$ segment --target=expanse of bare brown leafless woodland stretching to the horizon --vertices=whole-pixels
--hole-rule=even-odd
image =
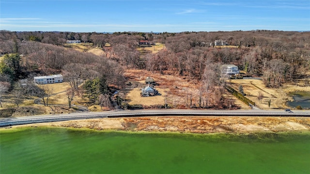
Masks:
[[[100,47],[105,55],[97,56],[71,49],[64,44],[66,40],[93,43],[93,46]],[[139,52],[137,43],[140,40],[164,43],[165,49],[156,54]],[[217,46],[216,40],[225,41],[228,45]],[[105,47],[106,43],[109,43],[110,47]],[[0,64],[0,85],[4,84],[3,82],[11,84],[10,87],[7,84],[5,87],[1,85],[3,90],[0,94],[12,90],[19,79],[32,80],[33,76],[52,73],[62,73],[77,95],[80,83],[88,82],[88,87],[84,90],[93,90],[92,85],[100,84],[98,79],[102,75],[110,87],[121,89],[125,86],[125,69],[182,76],[188,81],[200,82],[202,87],[199,90],[210,92],[216,88],[224,88],[225,80],[222,79],[227,77],[221,73],[223,64],[234,64],[248,76],[263,77],[266,87],[277,88],[294,79],[303,79],[304,86],[309,86],[310,79],[310,32],[0,31],[0,52],[7,54]],[[90,101],[98,102],[98,91],[99,88],[96,95],[91,94],[91,91],[84,92]],[[219,103],[225,105],[224,102]]]

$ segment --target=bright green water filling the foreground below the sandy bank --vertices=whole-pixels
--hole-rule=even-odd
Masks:
[[[310,174],[310,134],[2,131],[0,174]]]

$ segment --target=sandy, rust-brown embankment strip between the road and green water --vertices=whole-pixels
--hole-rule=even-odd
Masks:
[[[308,117],[254,117],[254,116],[154,116],[127,118],[98,118],[25,126],[53,126],[90,128],[94,130],[119,131],[174,131],[189,133],[250,133],[310,131]]]

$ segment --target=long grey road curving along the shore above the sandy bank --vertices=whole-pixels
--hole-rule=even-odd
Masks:
[[[136,116],[298,116],[310,117],[310,111],[294,111],[294,113],[285,111],[264,111],[264,110],[128,110],[128,111],[108,111],[108,112],[90,112],[73,113],[62,115],[42,115],[25,116],[16,118],[0,119],[0,127],[44,123],[54,121],[67,121],[90,118],[113,118],[113,117],[136,117]]]

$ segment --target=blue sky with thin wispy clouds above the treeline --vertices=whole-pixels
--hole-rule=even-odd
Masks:
[[[0,30],[310,30],[310,0],[0,0]]]

